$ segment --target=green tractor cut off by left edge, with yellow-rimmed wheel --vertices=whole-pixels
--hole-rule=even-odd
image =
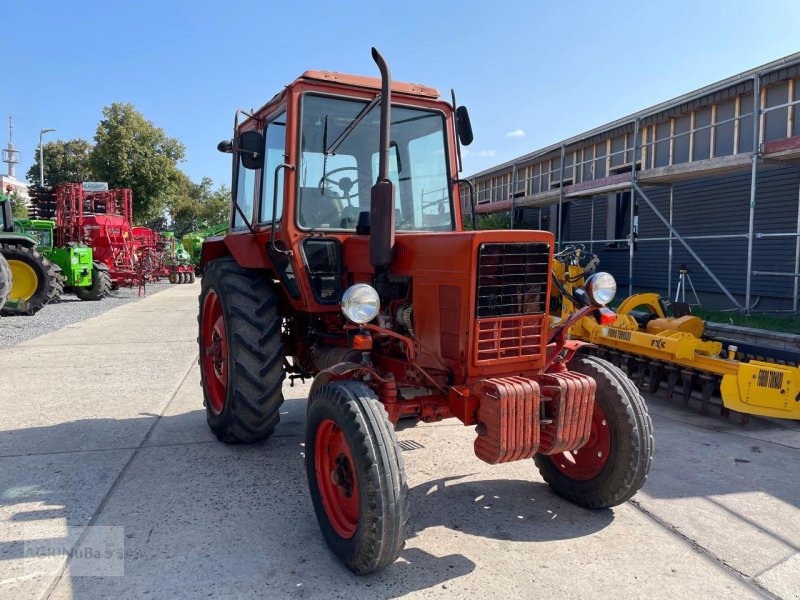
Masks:
[[[35,237],[15,231],[11,200],[0,194],[0,254],[8,263],[8,271],[0,266],[0,313],[4,315],[32,315],[61,296],[60,269],[36,245]]]

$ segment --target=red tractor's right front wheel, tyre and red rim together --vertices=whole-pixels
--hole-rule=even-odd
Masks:
[[[559,496],[586,508],[622,504],[639,491],[653,461],[653,423],[633,382],[610,362],[580,356],[569,363],[597,382],[589,441],[572,452],[534,456]]]

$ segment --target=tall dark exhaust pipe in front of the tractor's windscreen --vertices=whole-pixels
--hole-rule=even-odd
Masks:
[[[370,191],[370,264],[375,269],[378,292],[388,283],[387,271],[394,258],[394,185],[389,179],[389,142],[392,110],[392,75],[381,53],[372,49],[381,72],[381,123],[378,147],[378,179]],[[380,286],[380,287],[379,287]]]

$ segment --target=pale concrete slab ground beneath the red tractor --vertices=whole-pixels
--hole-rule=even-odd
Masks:
[[[308,386],[286,386],[265,443],[209,432],[198,289],[0,349],[0,598],[800,598],[800,428],[661,398],[650,478],[613,510],[561,500],[532,461],[485,465],[456,422],[402,429],[411,537],[386,571],[352,575],[307,493]],[[124,576],[25,557],[90,545],[90,525],[124,528]]]

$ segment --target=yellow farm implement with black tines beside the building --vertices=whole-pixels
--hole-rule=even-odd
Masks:
[[[554,305],[551,319],[561,320],[576,311],[580,299],[573,290],[584,284],[584,275],[597,266],[597,258],[581,266],[581,248],[569,247],[554,262]],[[580,307],[578,307],[580,308]],[[635,311],[635,312],[634,312]],[[752,360],[736,360],[737,348],[703,339],[703,321],[694,315],[667,316],[658,294],[635,294],[616,309],[613,324],[601,325],[593,316],[578,321],[570,336],[597,346],[598,356],[627,368],[640,387],[648,380],[655,392],[667,383],[672,397],[680,381],[688,405],[692,390],[702,390],[701,412],[708,410],[712,394],[719,390],[722,412],[800,419],[800,367]]]

